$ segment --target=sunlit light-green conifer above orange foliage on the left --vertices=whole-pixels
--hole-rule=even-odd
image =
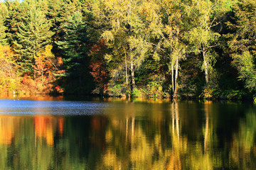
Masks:
[[[45,13],[33,6],[28,11],[28,15],[23,18],[21,25],[18,26],[18,40],[14,41],[14,51],[23,72],[33,72],[31,64],[34,64],[34,57],[50,43],[50,38],[53,35],[50,31],[50,24]]]

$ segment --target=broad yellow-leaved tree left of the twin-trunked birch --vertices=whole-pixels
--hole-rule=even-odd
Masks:
[[[151,48],[146,23],[141,14],[144,1],[100,1],[99,20],[105,21],[102,38],[110,53],[105,55],[112,80],[122,79],[127,91],[135,89],[135,72],[148,57]],[[101,17],[101,18],[100,18]],[[130,76],[129,76],[130,74]],[[129,78],[131,83],[129,83]]]

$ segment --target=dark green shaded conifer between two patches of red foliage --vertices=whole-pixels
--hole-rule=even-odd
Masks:
[[[85,91],[88,92],[91,88],[91,85],[88,84],[90,79],[88,70],[90,58],[88,54],[92,43],[90,27],[82,21],[82,13],[77,11],[68,18],[68,23],[65,23],[63,29],[65,31],[63,41],[58,41],[56,44],[63,55],[63,67],[67,70],[65,77],[72,80],[70,84],[77,86],[78,91],[79,89],[85,89],[85,86],[87,86],[88,89],[85,89]]]

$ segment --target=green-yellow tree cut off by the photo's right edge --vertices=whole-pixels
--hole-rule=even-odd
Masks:
[[[230,30],[228,47],[233,65],[238,69],[239,79],[245,81],[245,87],[255,92],[256,88],[256,2],[238,1],[233,6],[233,18],[227,25]]]

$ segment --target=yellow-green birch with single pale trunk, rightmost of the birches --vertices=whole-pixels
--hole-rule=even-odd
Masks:
[[[192,51],[203,57],[202,69],[205,73],[206,86],[210,85],[209,74],[213,70],[216,54],[212,48],[218,46],[220,34],[214,28],[220,24],[216,13],[218,6],[215,1],[192,1],[192,9],[188,11],[192,19],[193,28],[188,32],[186,38],[192,45]],[[189,15],[189,14],[188,14]]]

